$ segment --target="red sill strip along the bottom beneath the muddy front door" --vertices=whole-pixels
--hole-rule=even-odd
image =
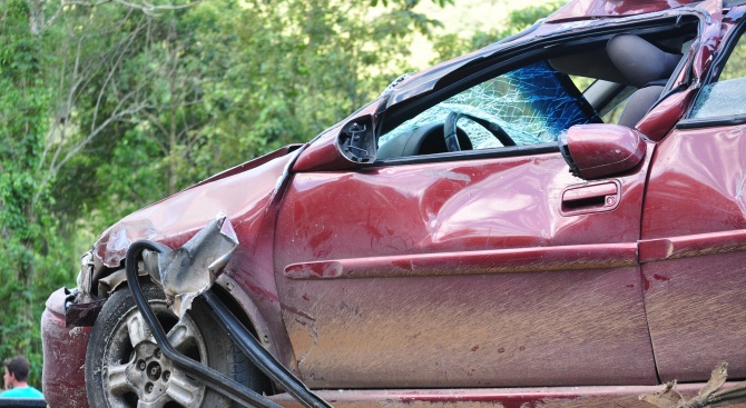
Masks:
[[[723,388],[736,382],[726,382]],[[685,396],[697,395],[705,384],[679,384],[676,389]],[[448,408],[459,407],[577,407],[577,408],[651,408],[639,396],[652,394],[662,386],[626,387],[543,387],[543,388],[463,388],[463,389],[391,389],[391,390],[323,390],[316,395],[335,408]],[[287,394],[269,397],[285,408],[298,402]]]

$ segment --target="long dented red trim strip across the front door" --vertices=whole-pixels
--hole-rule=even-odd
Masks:
[[[439,252],[292,263],[291,279],[544,272],[637,265],[637,242]]]

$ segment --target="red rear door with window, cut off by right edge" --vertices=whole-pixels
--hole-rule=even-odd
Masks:
[[[640,260],[664,381],[704,381],[719,361],[729,378],[746,378],[746,38],[736,24],[744,10],[725,16],[729,36],[707,84],[651,167]]]

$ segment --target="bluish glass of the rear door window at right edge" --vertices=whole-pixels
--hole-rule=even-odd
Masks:
[[[695,101],[691,119],[746,115],[746,39],[742,34],[717,82],[705,86]]]

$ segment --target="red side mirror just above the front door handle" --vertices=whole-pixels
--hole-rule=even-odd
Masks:
[[[558,142],[570,171],[586,180],[634,168],[647,148],[639,131],[619,125],[576,125]]]

